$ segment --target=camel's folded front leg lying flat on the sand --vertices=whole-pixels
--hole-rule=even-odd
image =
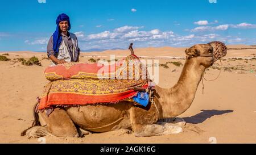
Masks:
[[[149,137],[159,135],[170,135],[182,132],[182,128],[176,125],[166,123],[165,125],[147,124],[147,125],[133,125],[133,131],[136,137]]]

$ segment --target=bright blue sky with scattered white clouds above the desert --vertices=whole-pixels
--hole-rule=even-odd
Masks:
[[[214,1],[214,0],[210,0]],[[254,0],[1,1],[0,51],[46,51],[61,13],[81,49],[256,44]]]

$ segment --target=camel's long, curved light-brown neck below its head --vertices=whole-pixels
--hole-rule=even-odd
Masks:
[[[205,67],[192,58],[185,61],[179,81],[171,89],[156,86],[163,118],[178,116],[191,106],[204,70]]]

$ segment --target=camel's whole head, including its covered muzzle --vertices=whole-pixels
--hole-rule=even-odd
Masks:
[[[196,57],[201,65],[206,68],[213,65],[215,61],[226,55],[227,47],[220,41],[212,41],[208,44],[196,44],[186,49],[187,59]]]

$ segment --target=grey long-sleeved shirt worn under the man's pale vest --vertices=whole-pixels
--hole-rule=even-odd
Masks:
[[[73,55],[72,53],[72,49],[73,49],[73,44],[72,44],[72,40],[76,40],[77,41],[77,37],[74,33],[68,32],[68,36],[65,36],[63,33],[61,33],[62,35],[62,41],[61,44],[65,43],[65,45],[68,47],[68,52],[69,55],[71,56],[71,61],[73,62],[78,62],[79,61],[79,55],[80,55],[80,48],[77,45],[77,48],[75,48],[75,53]],[[53,37],[51,36],[47,45],[47,56],[51,56],[54,55],[55,57],[57,57],[57,55],[54,53],[53,51]],[[74,56],[74,57],[73,57]]]

